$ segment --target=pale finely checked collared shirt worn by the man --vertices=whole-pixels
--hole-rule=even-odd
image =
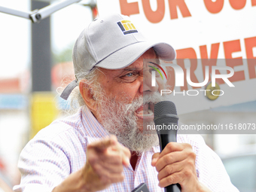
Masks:
[[[108,136],[102,125],[87,107],[79,108],[72,116],[55,120],[41,130],[20,154],[20,184],[14,191],[50,192],[72,172],[86,163],[87,145]],[[192,145],[197,154],[196,169],[200,182],[212,191],[237,192],[221,163],[220,158],[203,141],[201,136],[178,135],[178,142]],[[152,155],[159,152],[152,148],[139,157],[136,169],[123,166],[124,181],[111,184],[105,192],[129,192],[145,183],[151,192],[163,192],[158,187],[157,171],[151,166]]]

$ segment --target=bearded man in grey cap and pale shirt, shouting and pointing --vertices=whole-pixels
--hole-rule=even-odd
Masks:
[[[76,80],[62,93],[65,99],[72,93],[81,107],[26,145],[14,190],[127,192],[145,183],[149,191],[163,191],[178,183],[182,192],[238,191],[200,136],[178,135],[159,153],[157,134],[144,133],[163,98],[160,84],[143,81],[151,75],[143,61],[174,58],[169,44],[146,40],[129,17],[90,23],[73,50]]]

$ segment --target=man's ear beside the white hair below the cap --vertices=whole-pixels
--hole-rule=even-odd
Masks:
[[[91,110],[96,111],[96,100],[93,97],[93,89],[86,79],[82,79],[79,82],[79,90],[87,107],[89,107]]]

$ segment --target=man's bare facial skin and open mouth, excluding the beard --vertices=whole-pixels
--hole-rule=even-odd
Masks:
[[[111,96],[116,102],[131,103],[140,96],[151,96],[160,90],[159,84],[151,86],[151,68],[143,59],[157,59],[153,48],[146,51],[133,64],[124,69],[101,69],[99,82],[107,96]],[[159,78],[157,79],[157,82]],[[154,104],[145,104],[135,111],[138,123],[152,121],[154,119]]]

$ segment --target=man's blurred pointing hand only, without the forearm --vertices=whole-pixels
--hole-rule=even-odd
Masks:
[[[120,145],[115,136],[88,145],[84,166],[87,190],[103,190],[112,183],[123,181],[123,165],[130,164],[130,157],[130,150]]]

